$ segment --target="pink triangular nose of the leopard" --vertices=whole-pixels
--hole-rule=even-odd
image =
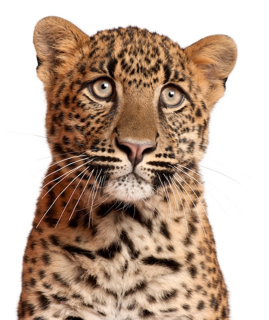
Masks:
[[[142,161],[145,152],[151,152],[155,148],[155,145],[153,144],[133,144],[125,141],[119,142],[119,145],[122,150],[126,151],[128,159],[133,167],[137,166]]]

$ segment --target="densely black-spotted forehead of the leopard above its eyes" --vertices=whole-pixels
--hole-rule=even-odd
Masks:
[[[147,88],[184,81],[184,62],[183,50],[170,38],[127,27],[100,31],[90,37],[77,66],[82,75],[105,73],[128,86]]]

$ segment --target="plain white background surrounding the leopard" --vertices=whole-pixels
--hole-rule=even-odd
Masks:
[[[32,34],[40,18],[57,15],[88,34],[137,25],[168,35],[182,47],[210,34],[235,39],[238,61],[212,113],[203,162],[209,169],[203,174],[231,319],[268,319],[266,2],[10,0],[0,6],[1,318],[16,318],[24,247],[50,161]]]

